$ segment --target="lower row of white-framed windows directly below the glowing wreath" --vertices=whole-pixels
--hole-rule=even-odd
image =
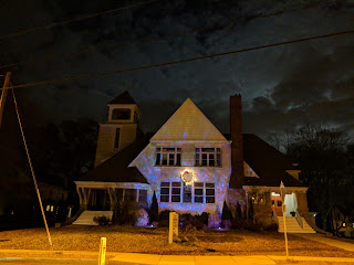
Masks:
[[[160,182],[160,202],[215,203],[215,183]]]

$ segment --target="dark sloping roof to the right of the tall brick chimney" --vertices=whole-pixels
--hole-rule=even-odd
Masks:
[[[244,178],[244,186],[304,187],[285,170],[296,170],[292,159],[256,135],[243,134],[243,159],[259,178]]]

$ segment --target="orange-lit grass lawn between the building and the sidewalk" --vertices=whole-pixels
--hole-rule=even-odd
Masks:
[[[284,236],[278,232],[205,230],[184,234],[167,243],[168,229],[135,226],[64,226],[51,229],[55,251],[98,252],[100,239],[107,237],[110,252],[164,255],[285,255]],[[0,250],[50,250],[44,229],[0,232]],[[354,257],[333,246],[289,235],[289,255]]]

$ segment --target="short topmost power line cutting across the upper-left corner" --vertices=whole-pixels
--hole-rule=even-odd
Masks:
[[[61,22],[53,22],[53,23],[50,23],[50,24],[46,24],[46,25],[35,26],[35,28],[31,28],[31,29],[28,29],[28,30],[23,30],[23,31],[18,31],[18,32],[10,33],[10,34],[7,34],[7,35],[0,35],[0,41],[2,41],[4,39],[8,39],[8,38],[13,38],[13,36],[18,36],[18,35],[32,33],[32,32],[35,32],[35,31],[48,30],[48,29],[54,28],[56,25],[63,25],[63,24],[69,24],[71,22],[75,22],[75,21],[81,21],[81,20],[85,20],[85,19],[92,19],[92,18],[95,18],[95,17],[98,17],[98,15],[102,15],[102,14],[114,13],[114,12],[117,12],[117,11],[121,11],[121,10],[139,7],[139,6],[143,6],[143,4],[150,3],[150,2],[156,2],[156,1],[158,1],[158,0],[148,0],[148,1],[145,1],[145,2],[139,2],[139,3],[132,4],[132,6],[123,7],[123,8],[111,9],[111,10],[106,10],[106,11],[98,12],[98,13],[92,13],[92,14],[79,17],[79,18],[75,18],[75,19],[70,19],[70,20],[65,20],[65,21],[61,21]]]

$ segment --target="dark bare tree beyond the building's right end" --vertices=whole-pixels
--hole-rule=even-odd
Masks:
[[[319,126],[304,126],[293,134],[288,155],[300,162],[300,180],[309,186],[309,205],[319,210],[320,226],[331,229],[337,187],[347,174],[346,138],[343,132]],[[344,195],[344,194],[342,194]],[[345,200],[341,200],[345,201]]]

